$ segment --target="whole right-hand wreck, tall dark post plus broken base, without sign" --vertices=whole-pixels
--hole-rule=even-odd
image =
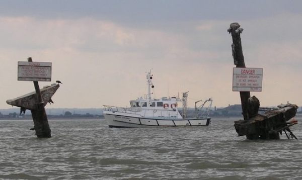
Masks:
[[[232,54],[236,67],[245,68],[245,62],[241,46],[243,29],[238,23],[232,23],[228,32],[232,34]],[[247,139],[280,139],[282,132],[289,138],[296,138],[289,127],[297,124],[294,119],[297,106],[287,103],[277,108],[260,108],[259,100],[250,92],[240,92],[241,105],[244,120],[235,121],[235,129],[239,136]],[[264,113],[259,114],[259,111]]]

